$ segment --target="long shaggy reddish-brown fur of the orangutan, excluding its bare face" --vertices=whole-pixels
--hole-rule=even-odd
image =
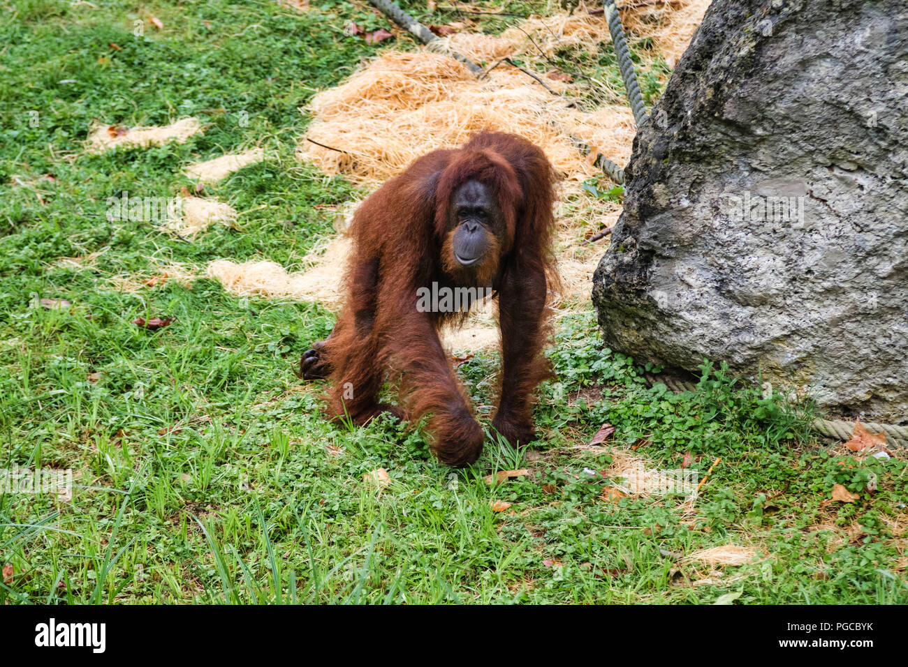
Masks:
[[[453,193],[466,181],[494,193],[504,220],[489,257],[465,270],[451,262],[447,232]],[[330,371],[329,412],[362,424],[393,409],[378,394],[400,379],[412,421],[428,417],[439,460],[464,466],[479,456],[484,434],[438,337],[439,325],[463,313],[419,312],[417,290],[433,281],[496,290],[501,327],[501,397],[492,426],[513,445],[534,437],[532,403],[550,367],[547,290],[557,279],[551,252],[555,174],[545,154],[513,134],[482,132],[462,148],[430,152],[387,181],[360,206],[350,228],[355,251],[347,299],[331,336],[317,346]],[[311,377],[320,377],[312,374]]]

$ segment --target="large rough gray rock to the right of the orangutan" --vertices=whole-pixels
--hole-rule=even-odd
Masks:
[[[908,423],[908,4],[716,0],[634,142],[606,343]]]

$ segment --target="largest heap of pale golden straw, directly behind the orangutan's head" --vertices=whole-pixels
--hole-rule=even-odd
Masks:
[[[625,106],[583,113],[513,68],[499,67],[479,81],[463,64],[428,52],[384,54],[341,86],[315,95],[310,110],[306,138],[312,142],[301,142],[298,156],[323,172],[371,185],[482,130],[526,137],[573,181],[599,171],[577,152],[572,133],[616,162],[627,161],[634,137]]]

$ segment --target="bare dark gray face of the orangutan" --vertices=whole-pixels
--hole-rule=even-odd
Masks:
[[[454,192],[451,201],[451,230],[454,257],[469,267],[482,260],[489,250],[489,234],[501,238],[504,219],[491,190],[479,181],[467,181]]]

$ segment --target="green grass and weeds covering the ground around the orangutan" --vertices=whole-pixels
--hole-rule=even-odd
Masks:
[[[362,5],[15,8],[0,10],[0,467],[71,468],[74,494],[0,495],[0,564],[12,566],[0,603],[908,602],[903,461],[833,456],[809,410],[721,368],[705,366],[696,391],[647,387],[601,347],[591,311],[558,323],[532,451],[491,444],[452,471],[419,430],[321,418],[321,387],[291,373],[331,329],[321,306],[238,299],[212,280],[115,287],[164,261],[299,269],[327,238],[332,207],[361,192],[293,159],[299,107],[375,53],[342,34]],[[134,36],[152,14],[164,30]],[[82,154],[93,120],[186,115],[206,130],[184,144]],[[104,217],[108,197],[174,196],[191,185],[186,162],[252,145],[268,159],[205,191],[242,211],[235,228],[184,242]],[[94,252],[84,269],[57,263]],[[140,316],[174,320],[149,331]],[[483,353],[459,368],[487,424],[496,363]],[[605,423],[611,449],[578,447]],[[602,500],[619,480],[586,471],[632,447],[654,467],[686,452],[701,473],[723,460],[693,511],[675,496]],[[363,476],[380,467],[390,485],[378,489]],[[528,476],[500,486],[482,479],[521,467]],[[859,499],[822,505],[834,484]],[[494,500],[510,511],[491,512]],[[723,544],[762,555],[712,574],[665,555]]]

